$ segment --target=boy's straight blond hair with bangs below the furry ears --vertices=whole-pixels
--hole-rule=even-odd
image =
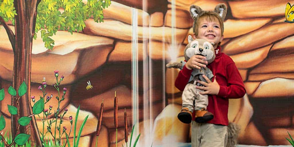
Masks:
[[[219,22],[221,34],[223,35],[223,30],[224,30],[223,20],[215,12],[208,11],[200,15],[197,21],[194,21],[193,23],[193,33],[195,33],[196,36],[198,36],[198,29],[200,26],[200,22],[203,20],[206,20],[208,22]]]

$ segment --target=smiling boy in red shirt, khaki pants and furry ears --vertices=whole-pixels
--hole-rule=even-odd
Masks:
[[[245,88],[240,73],[233,60],[220,52],[220,42],[223,40],[223,21],[227,8],[225,4],[218,4],[214,11],[203,11],[192,5],[190,13],[194,20],[194,38],[206,39],[214,42],[215,60],[208,65],[213,75],[213,82],[206,76],[206,82],[197,81],[204,85],[196,88],[204,90],[201,94],[208,94],[207,111],[214,114],[214,118],[206,123],[192,122],[192,147],[225,147],[227,144],[228,126],[228,98],[241,98],[245,95]],[[179,72],[175,86],[183,91],[194,68],[206,67],[205,57],[192,56]],[[206,111],[206,110],[203,110]]]

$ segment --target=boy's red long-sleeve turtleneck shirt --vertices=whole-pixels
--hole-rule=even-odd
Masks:
[[[215,60],[207,67],[216,76],[216,81],[220,85],[218,95],[208,95],[207,111],[214,114],[214,118],[207,123],[228,125],[228,98],[242,98],[245,95],[245,87],[241,75],[234,61],[226,54],[220,52],[220,46],[217,48]],[[217,50],[215,49],[215,51]],[[192,69],[186,66],[179,72],[175,81],[175,86],[183,91],[191,76]],[[214,81],[214,78],[212,82]],[[195,116],[195,115],[193,115]],[[194,120],[194,119],[193,119]]]

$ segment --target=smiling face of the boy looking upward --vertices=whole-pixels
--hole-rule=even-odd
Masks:
[[[220,24],[218,22],[208,22],[207,20],[202,20],[198,27],[198,36],[194,34],[194,37],[199,39],[206,39],[209,42],[214,42],[214,48],[216,49],[218,43],[223,40],[223,35],[221,34]]]

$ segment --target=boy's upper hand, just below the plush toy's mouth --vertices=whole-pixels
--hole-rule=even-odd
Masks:
[[[201,67],[206,67],[206,64],[208,64],[208,62],[203,59],[206,59],[206,57],[194,55],[187,61],[185,66],[187,69],[201,69]]]

